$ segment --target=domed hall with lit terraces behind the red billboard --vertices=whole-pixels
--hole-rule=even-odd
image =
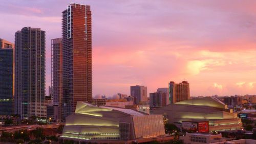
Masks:
[[[204,97],[176,102],[157,108],[169,123],[181,127],[182,121],[209,121],[209,131],[241,130],[241,118],[217,98]]]

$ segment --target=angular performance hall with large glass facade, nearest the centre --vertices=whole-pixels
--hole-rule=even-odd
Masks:
[[[77,102],[75,113],[66,118],[62,138],[130,143],[126,141],[164,135],[162,115]]]

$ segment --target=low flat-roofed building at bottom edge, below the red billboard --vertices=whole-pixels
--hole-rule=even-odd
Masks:
[[[185,136],[180,136],[179,138],[182,139],[185,144],[202,144],[226,141],[225,138],[222,138],[221,133],[186,133]]]

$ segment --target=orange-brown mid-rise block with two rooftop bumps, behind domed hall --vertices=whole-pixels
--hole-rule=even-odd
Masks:
[[[175,84],[174,81],[169,83],[169,104],[187,100],[190,97],[189,83],[182,81],[182,83]]]

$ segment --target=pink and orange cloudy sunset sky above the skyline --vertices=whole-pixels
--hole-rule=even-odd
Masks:
[[[91,5],[93,95],[147,92],[187,80],[190,96],[256,94],[256,1],[0,0],[0,38],[23,27],[46,31],[46,88],[51,39],[61,37],[70,2]]]

